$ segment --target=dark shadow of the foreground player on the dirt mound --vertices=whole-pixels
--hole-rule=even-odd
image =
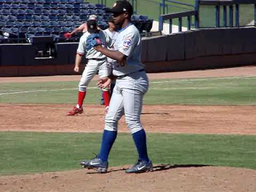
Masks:
[[[164,171],[164,170],[169,170],[169,169],[175,169],[175,168],[180,168],[180,167],[204,167],[204,166],[213,166],[213,165],[202,165],[202,164],[183,164],[183,165],[178,165],[178,164],[161,164],[161,165],[156,165],[153,166],[153,171],[151,172],[155,172],[155,171]],[[108,170],[107,173],[110,172],[116,172],[116,171],[125,171],[125,168],[122,169],[115,169],[115,170]],[[95,174],[98,172],[92,172],[92,173],[87,173],[87,174]]]

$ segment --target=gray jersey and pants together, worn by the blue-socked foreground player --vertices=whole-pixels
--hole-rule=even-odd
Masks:
[[[113,63],[113,74],[125,77],[116,79],[116,84],[111,96],[108,113],[105,117],[105,130],[117,131],[119,119],[125,115],[131,133],[143,129],[140,122],[143,95],[148,91],[148,77],[145,71],[140,71],[144,66],[140,61],[141,37],[138,29],[130,24],[119,31],[115,43],[115,50],[127,56],[124,67],[117,67]]]

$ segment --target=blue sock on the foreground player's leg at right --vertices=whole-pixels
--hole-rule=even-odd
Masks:
[[[142,129],[138,132],[133,133],[132,138],[134,140],[135,146],[137,147],[139,159],[141,161],[149,162],[145,131]]]

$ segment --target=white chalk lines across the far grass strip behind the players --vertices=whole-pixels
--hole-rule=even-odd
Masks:
[[[235,79],[235,78],[249,78],[249,77],[254,77],[254,76],[237,76],[237,77],[217,77],[217,78],[196,78],[196,79],[177,79],[177,80],[173,80],[173,81],[157,81],[157,82],[150,82],[150,84],[156,84],[156,83],[170,83],[170,82],[188,82],[188,81],[207,81],[207,80],[218,80],[218,79]],[[97,86],[95,87],[87,87],[87,89],[98,89]],[[157,89],[157,88],[151,88],[151,89]],[[163,90],[159,89],[159,90]],[[175,90],[175,89],[210,89],[207,87],[204,88],[198,88],[198,87],[194,87],[194,88],[166,88],[166,89],[170,89],[170,90]],[[54,89],[54,90],[31,90],[31,91],[19,91],[19,92],[9,92],[9,93],[0,93],[1,95],[9,95],[9,94],[22,94],[22,93],[33,93],[33,92],[49,92],[49,91],[66,91],[66,90],[77,90],[77,88],[70,88],[70,89]]]

